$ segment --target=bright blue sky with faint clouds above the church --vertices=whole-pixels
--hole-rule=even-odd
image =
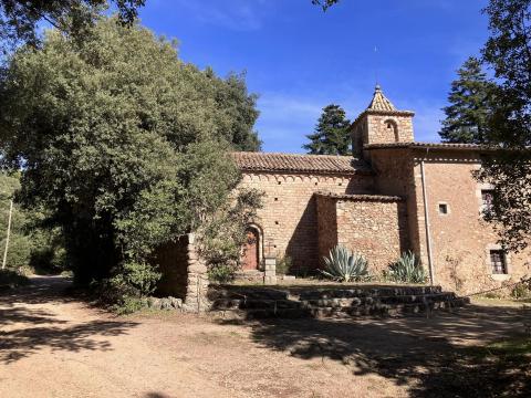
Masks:
[[[323,13],[311,0],[147,0],[140,19],[178,39],[185,61],[247,71],[263,150],[302,153],[321,109],[355,118],[376,74],[395,106],[416,112],[416,139],[438,140],[455,71],[487,38],[486,3],[342,0]]]

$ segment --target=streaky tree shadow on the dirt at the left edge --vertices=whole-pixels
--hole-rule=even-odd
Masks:
[[[0,295],[0,364],[13,363],[44,348],[110,350],[111,344],[102,337],[125,334],[137,325],[111,318],[69,322],[53,308],[80,300],[65,294],[70,282],[64,277],[34,277],[32,282]]]

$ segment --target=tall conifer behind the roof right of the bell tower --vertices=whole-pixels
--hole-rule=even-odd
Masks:
[[[481,61],[471,56],[457,71],[458,78],[451,83],[449,106],[442,108],[440,137],[446,143],[480,144],[486,140],[489,100],[493,83],[487,80]]]

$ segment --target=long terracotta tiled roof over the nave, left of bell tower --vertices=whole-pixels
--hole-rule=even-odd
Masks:
[[[368,165],[352,156],[298,155],[275,153],[232,153],[238,167],[246,171],[299,171],[315,174],[371,172]]]

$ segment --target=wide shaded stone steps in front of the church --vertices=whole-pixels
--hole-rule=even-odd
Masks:
[[[211,311],[244,318],[400,316],[469,303],[440,286],[217,286],[209,298]]]

